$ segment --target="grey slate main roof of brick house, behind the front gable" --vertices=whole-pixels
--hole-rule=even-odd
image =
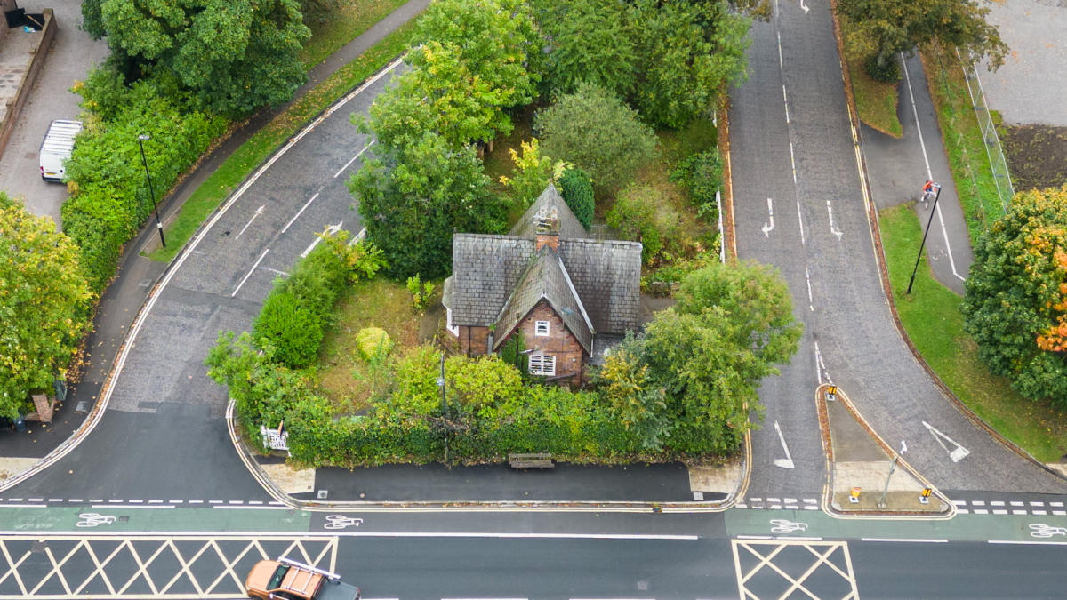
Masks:
[[[547,264],[544,249],[535,252],[537,233],[534,218],[543,206],[556,206],[558,210],[559,249],[551,254],[561,259],[559,273],[554,270],[556,266]],[[568,315],[562,309],[574,309],[564,300],[566,295],[555,291],[559,284],[554,283],[560,279],[559,274],[567,273],[577,291],[575,302],[585,307],[592,322],[590,333],[621,335],[627,330],[636,330],[639,322],[641,244],[636,241],[588,239],[587,235],[552,186],[527,209],[511,235],[456,234],[452,237],[452,275],[445,281],[443,299],[445,306],[452,312],[452,325],[489,327],[496,323],[497,331],[503,333],[507,330],[498,321],[513,293],[516,298],[522,296],[522,304],[525,305],[528,295],[536,295],[531,290],[538,289],[554,290],[553,298],[558,303],[554,307],[567,322]],[[542,260],[545,264],[538,266]],[[547,279],[540,285],[528,281],[524,283],[523,290],[519,290],[516,286],[527,271],[531,277],[537,273]],[[548,299],[547,293],[545,298]],[[517,306],[520,302],[516,300],[511,304]],[[530,309],[532,306],[529,304]],[[580,319],[580,313],[574,316]],[[571,328],[571,325],[568,323],[568,327]],[[576,329],[582,328],[575,325],[571,331],[580,342],[582,334]],[[498,336],[500,340],[504,337]],[[584,342],[583,345],[588,351],[590,346]]]

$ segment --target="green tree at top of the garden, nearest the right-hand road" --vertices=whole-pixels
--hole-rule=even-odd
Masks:
[[[639,57],[634,102],[646,121],[683,127],[715,110],[744,76],[749,20],[726,2],[637,0],[630,18]]]

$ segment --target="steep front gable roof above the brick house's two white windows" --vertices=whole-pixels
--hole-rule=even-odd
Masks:
[[[500,310],[500,316],[495,323],[493,350],[511,335],[519,322],[541,300],[548,302],[588,354],[593,344],[592,323],[571,283],[567,267],[563,266],[559,255],[547,246],[530,258],[526,270],[515,284],[514,291]]]

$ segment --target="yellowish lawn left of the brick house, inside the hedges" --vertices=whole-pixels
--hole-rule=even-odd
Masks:
[[[432,341],[442,314],[442,284],[434,283],[426,314],[415,311],[403,284],[384,277],[348,288],[334,313],[337,326],[319,349],[319,388],[340,412],[351,414],[369,407],[370,397],[380,395],[392,377],[384,370],[376,373],[373,365],[360,358],[356,334],[365,327],[384,329],[394,344],[393,356]]]

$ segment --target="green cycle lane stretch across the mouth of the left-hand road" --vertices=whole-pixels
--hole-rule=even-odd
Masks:
[[[185,508],[130,506],[2,506],[0,535],[22,532],[302,532],[312,512],[291,508]]]

